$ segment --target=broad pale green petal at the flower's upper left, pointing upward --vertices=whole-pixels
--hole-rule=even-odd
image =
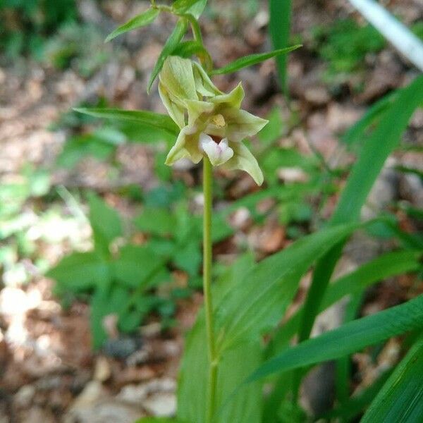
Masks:
[[[185,99],[198,99],[195,91],[192,61],[179,56],[168,56],[159,75],[173,102]]]

